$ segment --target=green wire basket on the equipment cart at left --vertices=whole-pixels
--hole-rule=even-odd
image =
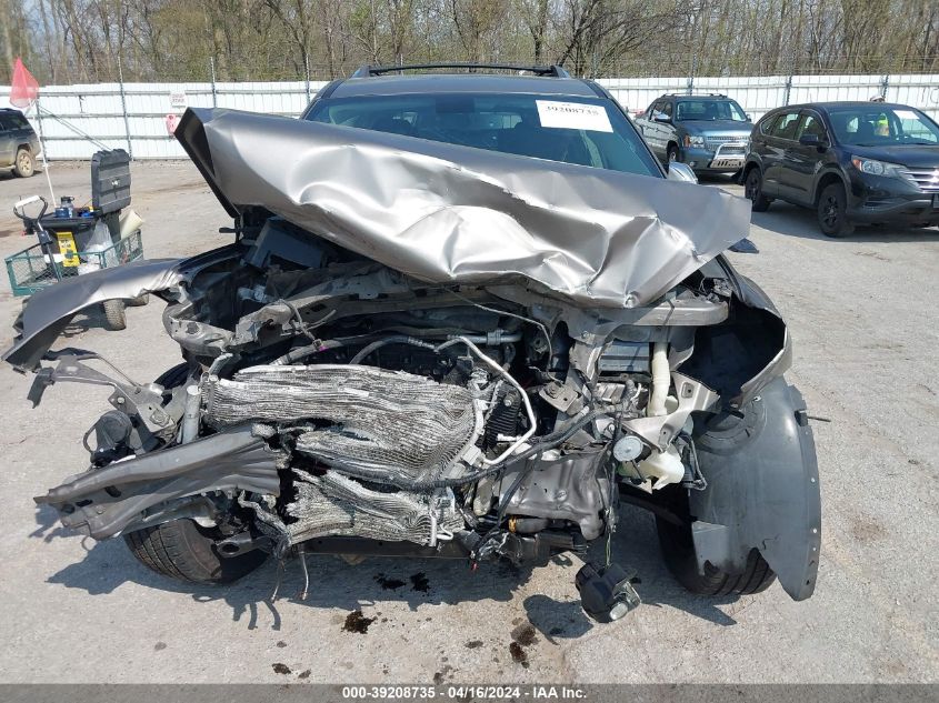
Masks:
[[[129,261],[143,258],[143,240],[140,230],[128,234],[114,242],[111,247],[101,251],[80,251],[78,258],[81,267],[66,267],[61,262],[49,261],[42,253],[39,243],[33,244],[12,257],[7,257],[7,274],[10,277],[10,290],[13,295],[32,295],[43,288],[57,283],[56,271],[59,270],[62,279],[80,275],[80,269],[110,269]]]

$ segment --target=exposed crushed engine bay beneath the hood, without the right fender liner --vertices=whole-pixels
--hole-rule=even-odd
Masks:
[[[621,491],[651,503],[707,488],[695,416],[720,399],[683,369],[732,295],[703,274],[581,341],[562,304],[422,284],[328,245],[320,269],[300,269],[290,229],[266,223],[176,290],[164,323],[184,373],[112,382],[92,470],[42,499],[64,524],[102,539],[223,515],[233,551],[342,536],[545,562],[609,534]],[[291,242],[282,257],[278,238]],[[254,269],[261,243],[277,263]],[[219,302],[226,289],[233,304]],[[54,382],[111,383],[88,354],[58,355],[33,399]],[[160,490],[137,493],[144,478]]]

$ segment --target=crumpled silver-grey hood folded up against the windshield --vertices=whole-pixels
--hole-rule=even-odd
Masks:
[[[747,235],[715,188],[356,128],[190,109],[177,137],[228,212],[263,208],[432,283],[656,300]]]

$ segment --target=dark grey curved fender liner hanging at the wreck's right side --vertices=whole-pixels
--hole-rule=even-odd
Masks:
[[[821,496],[802,395],[776,376],[741,408],[696,428],[705,491],[690,492],[698,566],[741,573],[756,549],[793,600],[815,590]]]

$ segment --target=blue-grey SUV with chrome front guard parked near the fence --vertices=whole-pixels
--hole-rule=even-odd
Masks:
[[[743,165],[753,124],[727,96],[662,96],[636,118],[659,159],[687,163],[697,173],[733,173]]]

